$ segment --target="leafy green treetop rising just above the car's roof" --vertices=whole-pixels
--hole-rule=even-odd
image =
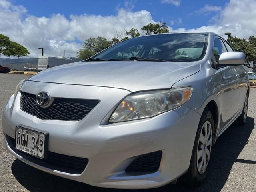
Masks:
[[[150,34],[158,34],[158,33],[168,33],[168,26],[166,26],[166,23],[157,23],[157,24],[152,24],[149,23],[141,28],[142,31],[146,33],[146,35]]]

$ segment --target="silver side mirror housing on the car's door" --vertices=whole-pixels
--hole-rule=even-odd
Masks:
[[[220,54],[219,64],[226,66],[241,65],[245,62],[245,56],[243,52],[224,52]]]

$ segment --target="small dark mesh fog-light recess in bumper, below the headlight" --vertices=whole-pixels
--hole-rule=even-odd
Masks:
[[[159,169],[162,151],[138,156],[126,169],[126,172],[156,172]]]

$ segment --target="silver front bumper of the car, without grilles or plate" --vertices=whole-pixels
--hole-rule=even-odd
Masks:
[[[60,90],[64,85],[54,86],[59,86],[58,90]],[[50,94],[54,94],[56,90],[47,90],[47,86],[44,88]],[[96,87],[90,89],[94,89],[94,92],[100,91]],[[114,88],[100,89],[109,89],[105,90],[106,93]],[[118,92],[117,95],[120,97],[116,98],[118,101],[128,94],[124,90],[114,89],[114,91]],[[4,108],[2,120],[4,145],[18,159],[35,168],[92,186],[140,189],[168,184],[186,172],[189,167],[200,115],[186,105],[153,118],[102,125],[100,122],[107,114],[101,113],[101,109],[106,108],[104,98],[99,98],[102,106],[100,104],[96,106],[86,118],[78,122],[68,122],[40,120],[23,112],[19,108],[19,97],[20,94],[13,102],[12,96]],[[108,101],[110,106],[111,102],[117,103],[114,99]],[[106,110],[111,109],[106,108]],[[48,150],[88,158],[89,162],[85,170],[81,174],[70,174],[40,166],[17,154],[12,150],[7,139],[7,135],[15,138],[17,125],[48,131],[50,133]],[[136,156],[159,150],[163,154],[157,172],[149,174],[125,172],[126,167]]]

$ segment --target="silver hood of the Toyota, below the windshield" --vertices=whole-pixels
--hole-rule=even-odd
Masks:
[[[44,70],[30,81],[122,88],[131,92],[171,88],[200,70],[200,62],[77,62]]]

